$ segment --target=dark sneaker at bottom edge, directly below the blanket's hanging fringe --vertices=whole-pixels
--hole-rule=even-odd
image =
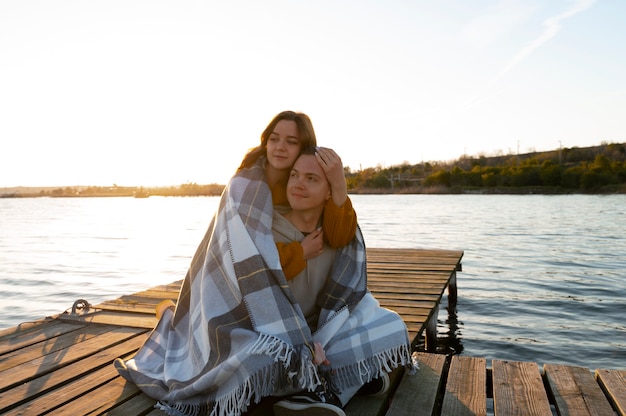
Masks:
[[[274,403],[275,416],[346,416],[339,398],[323,385]]]

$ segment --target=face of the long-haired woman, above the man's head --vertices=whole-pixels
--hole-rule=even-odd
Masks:
[[[300,138],[295,121],[281,120],[267,139],[267,161],[276,170],[291,169],[300,154]]]

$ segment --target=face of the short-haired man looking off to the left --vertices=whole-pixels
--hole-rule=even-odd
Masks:
[[[315,155],[302,155],[289,174],[287,200],[293,210],[321,208],[331,197],[330,185]]]

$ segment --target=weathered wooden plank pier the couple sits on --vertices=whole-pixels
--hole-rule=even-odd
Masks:
[[[456,298],[463,252],[368,249],[368,279],[381,305],[397,311],[410,336],[434,349],[437,312]],[[130,358],[156,324],[155,306],[176,301],[181,282],[88,305],[0,331],[0,414],[163,415],[122,379],[115,358]],[[69,306],[69,305],[68,305]],[[387,398],[355,397],[361,415],[626,415],[626,370],[588,369],[415,353],[416,375],[392,374]],[[271,414],[271,400],[248,412]],[[268,413],[269,412],[269,413]]]

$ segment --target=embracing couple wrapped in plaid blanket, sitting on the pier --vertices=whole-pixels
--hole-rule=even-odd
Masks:
[[[411,365],[406,326],[367,290],[343,166],[310,119],[278,114],[222,194],[176,308],[122,376],[171,415],[344,415],[364,387]],[[340,173],[340,175],[339,175]]]

